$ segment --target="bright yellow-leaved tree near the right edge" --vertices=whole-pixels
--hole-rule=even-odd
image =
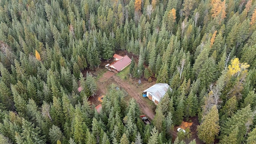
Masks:
[[[238,76],[241,72],[247,72],[246,68],[249,68],[249,64],[246,62],[241,63],[238,58],[231,60],[231,65],[228,66],[228,76]]]

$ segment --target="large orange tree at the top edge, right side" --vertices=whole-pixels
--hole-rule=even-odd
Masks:
[[[219,16],[219,14],[221,14],[221,20],[226,18],[225,3],[226,3],[226,0],[224,0],[223,2],[221,0],[211,0],[211,6],[212,6],[211,13],[213,18]]]

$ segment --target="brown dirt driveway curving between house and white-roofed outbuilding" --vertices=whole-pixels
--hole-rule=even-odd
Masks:
[[[152,106],[148,106],[148,100],[142,97],[142,91],[146,90],[148,87],[155,84],[155,82],[147,82],[146,80],[142,80],[142,84],[138,86],[136,83],[138,80],[133,80],[132,78],[128,78],[128,80],[122,80],[120,77],[116,76],[114,72],[107,71],[105,72],[101,78],[97,81],[98,84],[98,96],[104,95],[107,92],[108,85],[114,83],[118,86],[122,87],[128,95],[136,100],[138,105],[140,106],[142,114],[145,114],[153,120],[155,113],[152,109]],[[97,98],[95,98],[96,100]],[[90,100],[90,99],[89,99]]]

